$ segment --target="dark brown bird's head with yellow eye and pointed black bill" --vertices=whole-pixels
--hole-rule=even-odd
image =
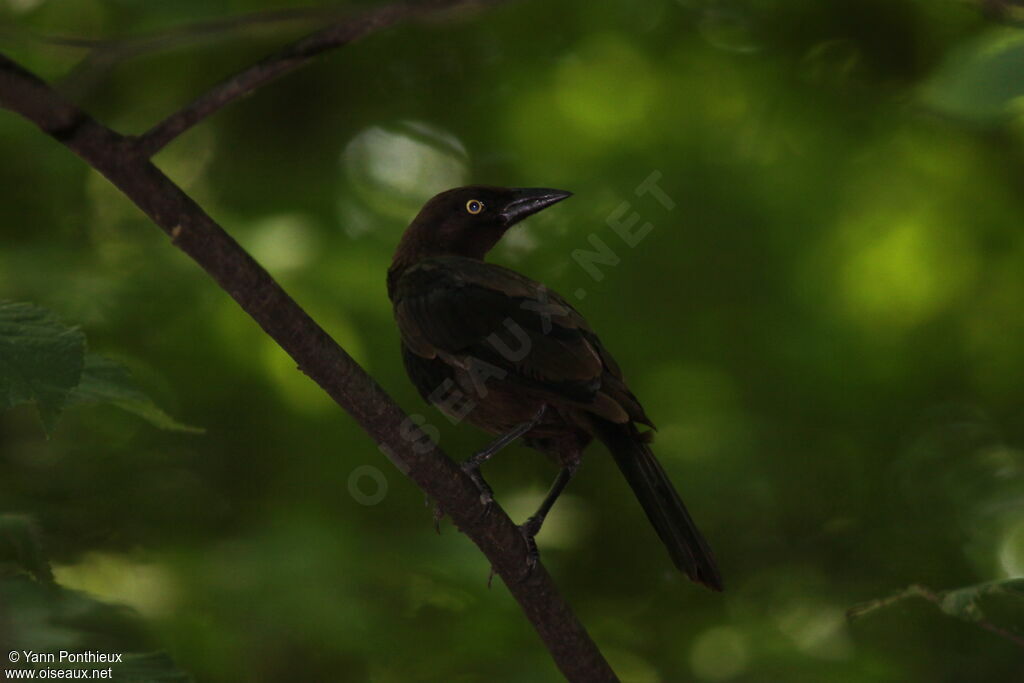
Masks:
[[[543,187],[456,187],[424,205],[406,229],[395,260],[454,255],[482,259],[523,218],[570,197]]]

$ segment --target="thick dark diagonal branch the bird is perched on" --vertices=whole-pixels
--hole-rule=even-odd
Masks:
[[[386,16],[393,23],[403,15]],[[372,25],[352,31],[365,35],[371,26],[382,26],[382,22],[384,17],[378,16]],[[437,501],[483,552],[568,680],[617,680],[547,570],[538,564],[526,573],[526,545],[508,515],[497,505],[485,508],[462,469],[430,442],[384,389],[220,225],[154,166],[131,138],[96,122],[2,54],[0,106],[32,121],[106,176],[170,236],[174,246],[199,263],[302,372],[355,418],[395,466]],[[398,434],[411,434],[412,438],[399,438]]]

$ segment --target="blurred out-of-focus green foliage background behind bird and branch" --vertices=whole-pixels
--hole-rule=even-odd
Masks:
[[[91,74],[17,37],[289,4],[0,15],[11,56],[138,133],[308,26]],[[540,546],[624,680],[1019,680],[1018,646],[923,601],[844,613],[1024,574],[1022,35],[954,0],[510,3],[332,53],[157,162],[454,456],[486,437],[406,379],[391,251],[453,184],[575,193],[494,259],[585,292],[727,588],[671,570],[594,446]],[[80,324],[206,429],[100,404],[47,440],[32,407],[0,415],[0,511],[35,520],[58,585],[132,607],[199,680],[558,680],[472,545],[205,273],[25,121],[0,115],[0,298]],[[671,209],[637,195],[654,172]],[[607,221],[633,213],[630,248]],[[599,281],[571,256],[593,236],[618,258]],[[552,475],[521,446],[486,468],[517,518]],[[42,649],[18,604],[0,634]]]

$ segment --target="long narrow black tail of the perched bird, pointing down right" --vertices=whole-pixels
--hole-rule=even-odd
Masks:
[[[633,425],[599,422],[597,437],[611,451],[672,561],[691,580],[721,591],[722,577],[715,556],[644,435]]]

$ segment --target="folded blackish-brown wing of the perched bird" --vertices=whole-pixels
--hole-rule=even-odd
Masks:
[[[562,297],[519,273],[461,257],[421,261],[400,278],[395,318],[409,349],[504,379],[615,422],[649,423],[614,359]]]

